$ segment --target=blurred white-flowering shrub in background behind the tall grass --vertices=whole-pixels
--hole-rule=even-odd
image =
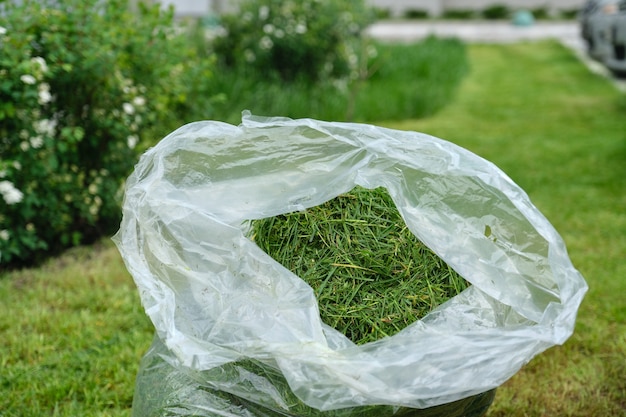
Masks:
[[[356,77],[361,33],[373,17],[363,0],[244,0],[224,16],[214,48],[226,65],[264,78]]]

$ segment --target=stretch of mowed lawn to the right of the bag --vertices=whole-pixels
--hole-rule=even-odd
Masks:
[[[433,118],[386,123],[491,160],[563,236],[590,290],[574,335],[498,391],[490,417],[626,415],[626,96],[555,42],[472,45]]]

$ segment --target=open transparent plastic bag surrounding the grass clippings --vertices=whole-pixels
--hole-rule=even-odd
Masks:
[[[312,289],[245,226],[356,185],[385,187],[409,229],[472,284],[359,346],[321,322]],[[355,123],[244,113],[240,126],[185,125],[140,159],[114,240],[162,344],[138,392],[150,392],[151,369],[170,366],[157,379],[182,402],[167,415],[409,415],[479,398],[565,342],[587,290],[558,233],[495,165],[432,136]],[[231,409],[211,411],[221,401]],[[135,415],[151,415],[140,402]]]

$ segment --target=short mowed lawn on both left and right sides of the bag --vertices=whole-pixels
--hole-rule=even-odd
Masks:
[[[575,334],[501,387],[489,416],[626,409],[626,98],[552,42],[473,45],[456,100],[418,130],[495,162],[565,239],[590,290]],[[0,277],[0,416],[129,416],[152,338],[109,241]]]

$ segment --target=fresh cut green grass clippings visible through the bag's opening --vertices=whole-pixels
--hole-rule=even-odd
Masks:
[[[409,231],[384,188],[255,220],[251,233],[313,288],[322,320],[356,344],[396,334],[468,286]]]

